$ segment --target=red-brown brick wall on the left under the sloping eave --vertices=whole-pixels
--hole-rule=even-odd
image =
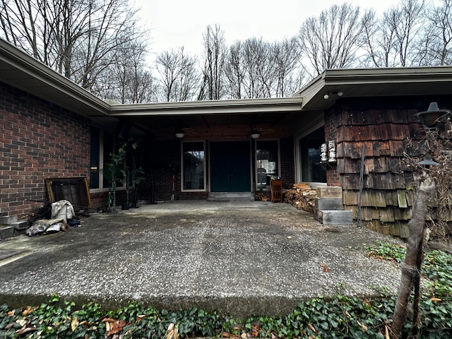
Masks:
[[[90,121],[0,83],[0,215],[48,200],[45,179],[88,177]]]

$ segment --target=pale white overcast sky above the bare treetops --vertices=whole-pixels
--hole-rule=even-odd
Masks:
[[[427,0],[429,1],[429,0]],[[151,29],[152,52],[184,46],[201,54],[203,33],[215,24],[225,32],[226,44],[249,37],[273,42],[296,35],[306,18],[319,16],[335,0],[135,0],[139,16]],[[349,0],[382,13],[397,0]]]

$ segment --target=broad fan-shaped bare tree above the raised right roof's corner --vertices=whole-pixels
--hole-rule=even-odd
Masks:
[[[359,6],[333,5],[318,18],[308,18],[299,29],[299,46],[311,65],[311,76],[325,69],[342,69],[357,64],[361,47],[363,21]]]

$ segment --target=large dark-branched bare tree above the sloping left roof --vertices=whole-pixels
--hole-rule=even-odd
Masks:
[[[127,0],[1,0],[0,23],[2,37],[88,90],[148,33]]]

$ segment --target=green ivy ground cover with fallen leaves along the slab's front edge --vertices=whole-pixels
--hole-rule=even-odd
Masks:
[[[403,246],[376,242],[367,248],[369,256],[400,262]],[[441,251],[428,252],[422,268],[424,284],[420,309],[420,338],[452,338],[452,256]],[[340,286],[339,286],[340,287]],[[130,302],[116,311],[105,311],[99,304],[80,309],[52,296],[48,304],[24,309],[0,305],[0,338],[172,338],[240,337],[261,338],[384,338],[386,324],[393,316],[396,296],[379,289],[377,297],[316,297],[300,302],[287,316],[251,316],[234,319],[220,311],[179,309],[169,311],[143,307]],[[406,336],[409,326],[404,329]]]

